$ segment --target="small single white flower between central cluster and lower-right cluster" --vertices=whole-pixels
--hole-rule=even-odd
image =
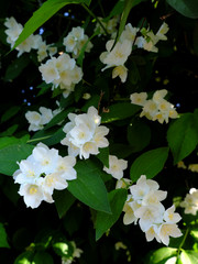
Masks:
[[[123,177],[123,169],[128,167],[128,162],[119,160],[117,156],[109,155],[109,168],[106,166],[103,170],[111,174],[113,178],[121,179]]]

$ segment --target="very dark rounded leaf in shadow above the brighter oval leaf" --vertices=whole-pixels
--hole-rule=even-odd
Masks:
[[[148,145],[151,140],[151,129],[142,120],[133,120],[128,127],[128,141],[133,147],[133,152],[140,152]]]

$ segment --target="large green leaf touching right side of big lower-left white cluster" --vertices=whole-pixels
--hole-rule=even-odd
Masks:
[[[100,169],[91,161],[80,161],[75,166],[77,179],[68,183],[68,190],[85,205],[111,213],[106,186]]]

